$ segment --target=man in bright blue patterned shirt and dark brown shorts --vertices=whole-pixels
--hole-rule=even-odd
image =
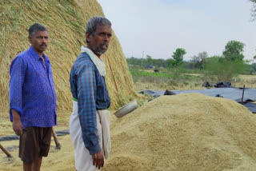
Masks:
[[[20,136],[18,156],[26,171],[39,171],[50,149],[52,126],[57,125],[56,93],[50,60],[43,52],[48,31],[38,23],[29,29],[30,49],[10,65],[10,121]]]

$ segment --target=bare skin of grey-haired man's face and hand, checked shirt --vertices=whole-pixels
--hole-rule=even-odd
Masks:
[[[111,26],[97,25],[94,34],[86,33],[87,47],[100,58],[106,52],[109,46],[110,38],[112,36]],[[93,164],[101,169],[104,165],[104,154],[102,150],[92,155]]]

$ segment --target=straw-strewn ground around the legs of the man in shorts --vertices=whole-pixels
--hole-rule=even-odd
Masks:
[[[113,111],[111,111],[113,113]],[[62,115],[62,116],[61,116]],[[60,121],[58,126],[54,127],[55,131],[69,129],[70,113],[58,113]],[[8,113],[0,113],[0,137],[14,135],[12,125],[9,121]],[[117,118],[112,114],[111,121]],[[66,121],[65,121],[66,120]],[[74,149],[70,139],[70,135],[58,136],[58,141],[62,145],[61,149],[55,149],[54,137],[52,137],[50,145],[50,153],[48,157],[43,157],[42,171],[73,171],[74,168]],[[19,171],[22,170],[22,161],[18,157],[18,140],[0,141],[0,144],[12,155],[11,158],[0,149],[0,171]]]

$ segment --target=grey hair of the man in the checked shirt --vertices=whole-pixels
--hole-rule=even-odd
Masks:
[[[110,20],[107,18],[101,17],[101,16],[95,16],[93,18],[90,18],[89,22],[86,24],[86,33],[88,34],[94,34],[96,31],[96,26],[111,26]]]

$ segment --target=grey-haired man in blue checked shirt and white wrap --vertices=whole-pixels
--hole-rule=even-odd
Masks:
[[[111,22],[103,17],[90,18],[86,25],[87,47],[70,72],[73,113],[70,137],[78,171],[101,169],[110,153],[110,97],[106,89],[106,66],[101,55],[111,38]]]

